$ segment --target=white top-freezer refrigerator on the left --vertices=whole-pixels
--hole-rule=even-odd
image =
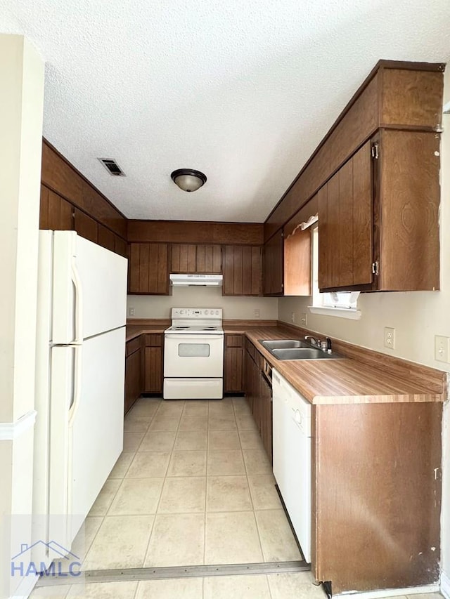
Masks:
[[[38,277],[33,541],[49,565],[46,544],[70,550],[122,452],[127,260],[42,230]]]

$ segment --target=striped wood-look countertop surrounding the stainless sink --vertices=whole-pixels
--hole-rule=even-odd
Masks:
[[[255,327],[247,329],[245,335],[311,404],[442,402],[445,399],[443,393],[435,393],[352,358],[277,360],[259,339],[296,338],[282,327]]]

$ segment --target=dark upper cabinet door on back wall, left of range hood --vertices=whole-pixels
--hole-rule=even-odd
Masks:
[[[169,294],[167,244],[130,244],[129,293]]]

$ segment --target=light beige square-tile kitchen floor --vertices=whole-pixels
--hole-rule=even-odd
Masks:
[[[243,398],[141,398],[124,431],[124,451],[86,518],[85,570],[301,559]],[[82,595],[73,585],[32,597],[325,598],[313,582],[300,572],[89,584]]]

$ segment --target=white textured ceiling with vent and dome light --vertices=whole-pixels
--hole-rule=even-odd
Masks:
[[[37,46],[44,136],[126,216],[263,222],[378,59],[450,58],[450,2],[0,0],[0,32]]]

